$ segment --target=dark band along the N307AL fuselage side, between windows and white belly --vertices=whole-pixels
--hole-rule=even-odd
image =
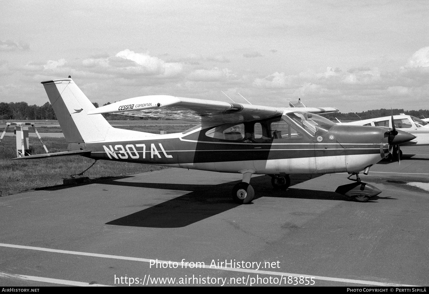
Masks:
[[[274,141],[281,140],[282,139],[278,139]],[[137,147],[136,145],[138,144],[145,144],[144,158],[143,148]],[[152,144],[154,144],[156,149],[154,152],[151,151]],[[162,145],[165,154],[159,144]],[[109,158],[103,145],[105,145],[108,150],[113,151],[118,158],[116,159],[112,155],[110,156],[111,158]],[[133,145],[134,149],[127,149],[127,145]],[[344,149],[340,144],[213,144],[211,142],[183,142],[180,141],[180,139],[151,142],[121,142],[120,144],[112,142],[103,143],[102,145],[88,144],[88,147],[94,150],[94,152],[91,153],[91,157],[93,158],[156,164],[273,160],[380,153],[380,145],[364,145]],[[134,150],[136,150],[136,152],[134,152]],[[387,147],[385,150],[387,150]],[[154,153],[154,155],[152,155],[152,153]],[[159,156],[156,153],[159,154]],[[132,158],[131,155],[133,155],[134,158]],[[137,155],[138,158],[136,158]],[[167,156],[171,156],[171,158]]]

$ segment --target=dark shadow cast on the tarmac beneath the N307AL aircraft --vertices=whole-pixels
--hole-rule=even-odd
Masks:
[[[290,185],[314,179],[322,175],[291,175]],[[163,203],[145,208],[130,215],[109,221],[106,224],[131,226],[131,227],[158,227],[173,228],[185,227],[205,218],[233,209],[239,204],[234,203],[230,196],[233,186],[241,181],[227,182],[219,185],[194,185],[194,184],[169,184],[169,183],[145,183],[124,182],[118,179],[127,179],[132,176],[122,176],[114,179],[103,179],[97,181],[105,185],[120,185],[128,187],[154,188],[174,191],[190,191],[185,195],[175,197]],[[88,185],[94,182],[82,183]],[[347,197],[332,191],[317,191],[308,189],[288,188],[287,191],[273,190],[271,177],[258,176],[251,180],[254,187],[255,198],[260,197],[284,197],[315,200],[347,200]],[[60,190],[70,186],[53,186],[39,188],[38,190]],[[144,197],[144,195],[142,195]],[[384,199],[383,197],[372,197],[372,200]],[[387,197],[387,199],[389,199]],[[369,201],[374,202],[374,201]],[[253,203],[250,203],[253,204]],[[249,205],[249,204],[248,204]],[[362,205],[360,203],[360,205]]]

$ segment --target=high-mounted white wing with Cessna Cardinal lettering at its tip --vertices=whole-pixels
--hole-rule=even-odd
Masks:
[[[228,103],[223,101],[202,100],[194,98],[174,97],[168,95],[152,95],[134,97],[91,110],[88,114],[118,113],[134,116],[158,116],[176,118],[201,118],[202,121],[213,122],[245,122],[255,121],[282,115],[286,112],[304,111],[315,114],[338,112],[333,107],[270,107],[252,104]]]

